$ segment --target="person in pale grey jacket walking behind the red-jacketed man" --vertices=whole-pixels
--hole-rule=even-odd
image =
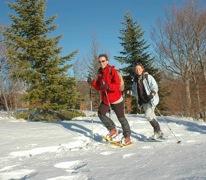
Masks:
[[[132,95],[136,97],[138,107],[144,110],[146,119],[154,129],[152,138],[163,138],[163,133],[155,115],[155,107],[159,103],[157,82],[152,75],[145,72],[144,66],[140,63],[135,65],[134,72]]]

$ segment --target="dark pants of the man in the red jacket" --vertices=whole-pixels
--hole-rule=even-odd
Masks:
[[[131,135],[131,130],[129,123],[124,115],[124,102],[120,102],[118,104],[111,104],[111,108],[114,110],[123,130],[124,137]],[[106,116],[106,113],[109,112],[109,106],[101,103],[98,109],[98,116],[105,127],[110,131],[111,129],[115,128],[114,122]]]

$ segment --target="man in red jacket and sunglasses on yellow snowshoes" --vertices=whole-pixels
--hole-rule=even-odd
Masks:
[[[109,65],[108,56],[106,54],[100,54],[98,56],[100,68],[98,70],[97,78],[91,80],[88,78],[87,82],[91,84],[93,88],[100,92],[101,103],[98,108],[98,116],[109,133],[107,137],[112,139],[118,135],[118,131],[114,122],[106,116],[110,107],[114,110],[119,122],[123,129],[123,143],[125,145],[131,144],[131,130],[127,119],[124,114],[124,101],[122,92],[120,90],[120,77],[114,66]]]

